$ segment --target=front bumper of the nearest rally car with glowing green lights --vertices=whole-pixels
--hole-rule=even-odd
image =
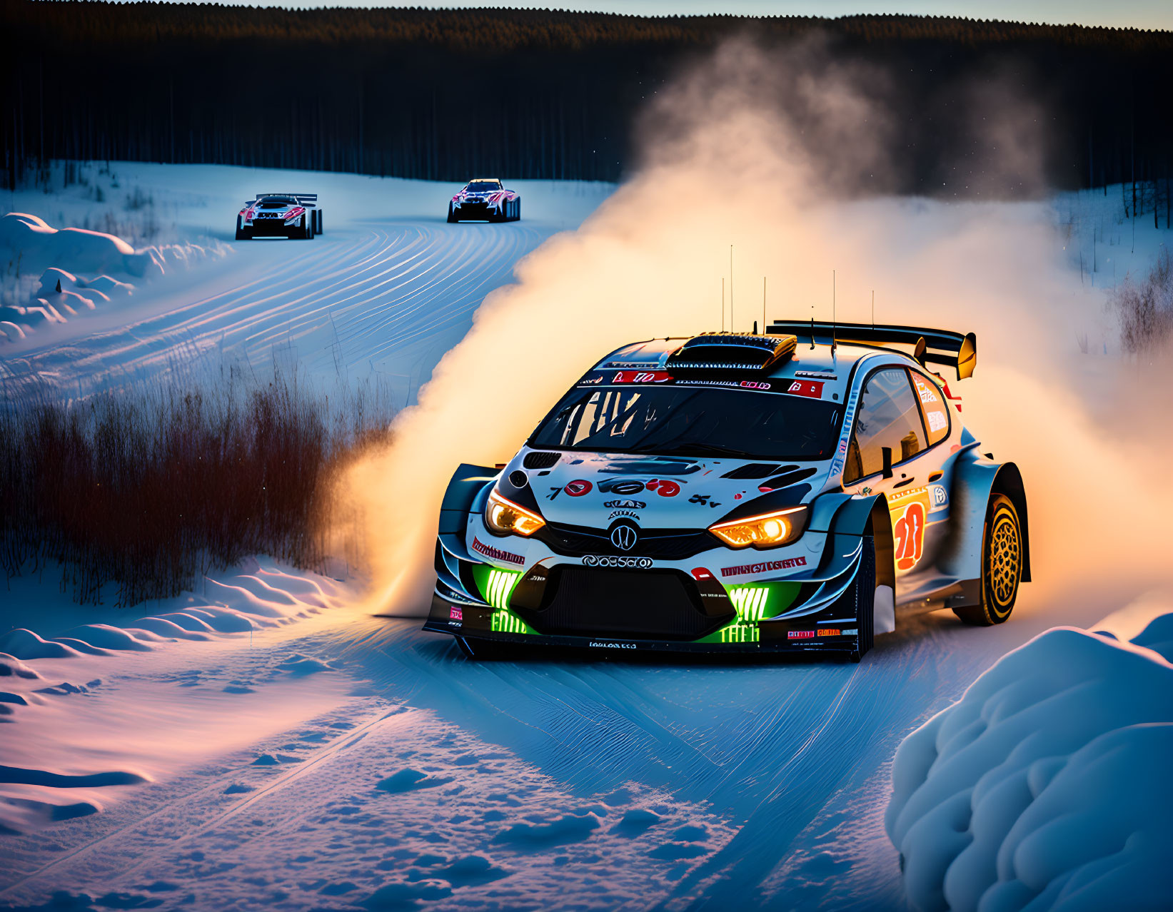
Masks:
[[[723,584],[676,567],[540,562],[522,572],[436,546],[423,629],[535,646],[703,653],[859,651],[859,600],[875,588],[873,552],[855,538],[828,573]],[[852,543],[839,542],[838,546]],[[472,558],[472,556],[469,556]]]

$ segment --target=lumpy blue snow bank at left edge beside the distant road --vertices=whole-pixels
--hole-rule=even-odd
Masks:
[[[36,274],[40,280],[26,304],[0,307],[0,341],[23,339],[41,326],[68,322],[129,298],[135,286],[116,275],[150,280],[175,267],[222,254],[219,246],[191,243],[135,250],[114,234],[55,229],[36,216],[8,212],[0,217],[0,258],[15,272],[18,281],[22,275]]]

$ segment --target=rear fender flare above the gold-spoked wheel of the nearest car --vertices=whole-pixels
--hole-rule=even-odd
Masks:
[[[1022,472],[1012,462],[994,462],[978,455],[975,443],[972,449],[957,454],[949,491],[951,531],[938,563],[960,580],[982,578],[985,511],[990,496],[1001,494],[1010,498],[1018,513],[1023,537],[1022,581],[1030,583],[1030,523]]]

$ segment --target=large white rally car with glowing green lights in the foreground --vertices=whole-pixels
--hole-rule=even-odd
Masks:
[[[1022,476],[978,452],[928,368],[960,381],[976,362],[972,334],[904,326],[625,346],[503,469],[456,470],[425,629],[470,656],[551,644],[857,661],[907,614],[1001,624],[1030,579]]]

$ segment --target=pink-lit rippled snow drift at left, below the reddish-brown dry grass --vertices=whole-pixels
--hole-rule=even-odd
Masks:
[[[345,586],[267,558],[204,583],[206,593],[168,599],[124,626],[0,633],[0,837],[100,814],[128,794],[121,787],[337,702],[347,685],[325,680],[334,663],[270,649],[265,634],[345,606]],[[26,622],[52,624],[60,607],[42,599]],[[0,612],[5,624],[19,617]],[[198,642],[187,652],[183,640]],[[176,687],[194,697],[176,699]]]

